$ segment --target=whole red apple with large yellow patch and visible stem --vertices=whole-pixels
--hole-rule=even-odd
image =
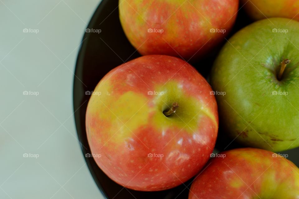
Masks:
[[[86,112],[88,143],[98,166],[124,187],[169,189],[208,161],[218,131],[211,87],[187,62],[143,56],[111,70]],[[164,112],[178,104],[175,112]]]

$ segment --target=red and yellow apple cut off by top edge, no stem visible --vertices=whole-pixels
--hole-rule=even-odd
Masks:
[[[142,55],[196,60],[224,40],[235,22],[238,0],[119,0],[119,16]]]

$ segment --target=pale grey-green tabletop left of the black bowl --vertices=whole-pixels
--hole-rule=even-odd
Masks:
[[[1,199],[102,198],[77,140],[72,101],[79,45],[99,2],[0,0]]]

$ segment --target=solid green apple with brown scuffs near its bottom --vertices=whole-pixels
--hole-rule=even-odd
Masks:
[[[232,139],[271,151],[299,146],[298,32],[297,21],[264,19],[237,32],[221,49],[211,85],[225,92],[216,100],[222,130]],[[284,59],[291,63],[279,81]]]

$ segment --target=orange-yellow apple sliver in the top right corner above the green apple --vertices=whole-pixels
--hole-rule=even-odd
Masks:
[[[247,14],[254,20],[269,17],[286,17],[299,21],[297,0],[241,0]]]

